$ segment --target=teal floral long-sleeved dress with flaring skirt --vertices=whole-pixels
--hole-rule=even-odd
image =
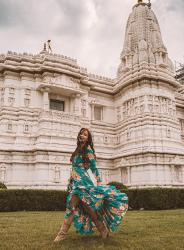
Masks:
[[[78,195],[80,200],[90,206],[97,214],[100,221],[103,221],[109,231],[116,231],[122,218],[128,209],[128,197],[121,193],[114,186],[102,185],[99,171],[96,167],[96,160],[90,146],[86,148],[89,157],[88,166],[83,163],[82,155],[74,157],[69,185],[69,194],[66,200],[66,213],[64,219],[74,213],[74,226],[77,233],[92,234],[95,227],[91,217],[84,212],[82,204],[73,212],[70,207],[72,195]],[[88,169],[91,169],[97,181],[93,183]]]

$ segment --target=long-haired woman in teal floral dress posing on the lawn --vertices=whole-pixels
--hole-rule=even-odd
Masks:
[[[82,128],[77,136],[77,148],[70,161],[72,171],[68,185],[64,223],[55,242],[65,239],[72,222],[80,234],[92,234],[94,225],[103,239],[109,232],[117,230],[128,209],[128,197],[114,186],[102,185],[96,167],[96,155],[92,136],[87,128]],[[88,169],[95,176],[97,185],[91,180]]]

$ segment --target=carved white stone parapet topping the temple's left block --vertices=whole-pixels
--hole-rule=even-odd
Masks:
[[[0,55],[0,70],[29,71],[32,74],[43,73],[48,70],[65,73],[77,78],[87,75],[85,68],[79,67],[77,60],[58,54],[28,54],[8,51]]]

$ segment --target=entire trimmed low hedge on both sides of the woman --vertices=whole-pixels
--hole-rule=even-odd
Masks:
[[[184,208],[184,189],[150,188],[121,190],[131,209]],[[0,211],[65,211],[66,191],[0,189]]]

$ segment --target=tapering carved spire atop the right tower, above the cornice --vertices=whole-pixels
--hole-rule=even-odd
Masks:
[[[120,59],[118,75],[142,62],[152,63],[155,66],[164,65],[165,68],[173,71],[173,65],[162,40],[158,20],[151,9],[150,2],[138,1],[133,7],[127,21]]]

